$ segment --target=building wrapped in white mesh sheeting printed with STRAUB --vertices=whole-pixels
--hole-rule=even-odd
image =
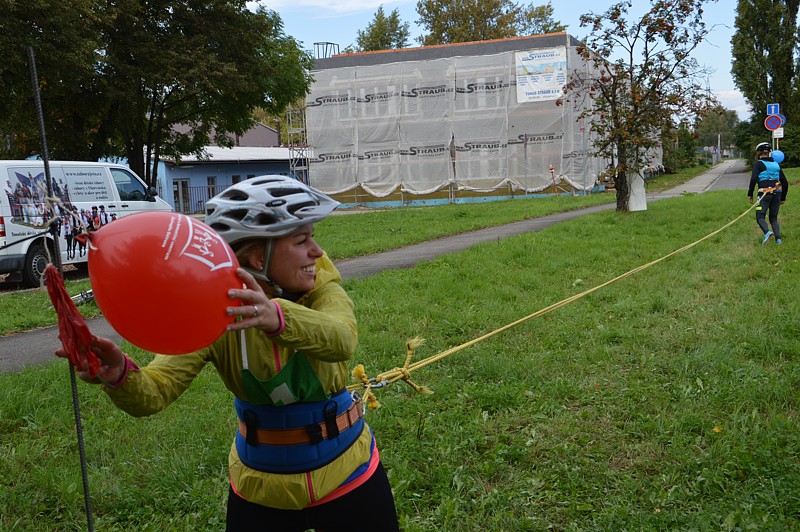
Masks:
[[[554,33],[317,59],[309,182],[356,202],[591,190],[605,165],[580,109],[556,104],[588,68],[578,45]]]

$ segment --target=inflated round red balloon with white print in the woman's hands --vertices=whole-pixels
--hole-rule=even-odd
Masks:
[[[89,236],[89,280],[109,324],[130,343],[165,355],[212,344],[238,304],[239,263],[206,224],[174,212],[137,213]]]

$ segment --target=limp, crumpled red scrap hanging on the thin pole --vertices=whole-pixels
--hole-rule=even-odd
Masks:
[[[48,264],[44,275],[47,281],[47,293],[58,315],[58,338],[67,353],[67,358],[79,370],[88,370],[91,377],[96,377],[100,370],[100,360],[89,350],[93,336],[86,325],[86,320],[70,299],[58,269]]]

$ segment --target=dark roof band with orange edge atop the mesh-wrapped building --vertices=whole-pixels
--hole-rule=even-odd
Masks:
[[[464,55],[491,55],[509,51],[530,50],[531,48],[577,46],[579,42],[575,37],[560,32],[525,37],[508,37],[489,41],[398,48],[396,50],[376,50],[373,52],[337,54],[333,57],[315,59],[314,69],[327,70],[329,68],[383,65],[401,61],[424,61]]]

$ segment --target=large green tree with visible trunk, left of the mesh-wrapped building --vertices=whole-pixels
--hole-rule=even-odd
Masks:
[[[255,108],[282,112],[310,85],[312,60],[274,11],[226,0],[167,3],[119,2],[107,51],[125,104],[125,153],[148,182],[161,157],[201,155],[212,141],[229,146],[229,133],[252,127]],[[189,131],[177,132],[179,124]]]

